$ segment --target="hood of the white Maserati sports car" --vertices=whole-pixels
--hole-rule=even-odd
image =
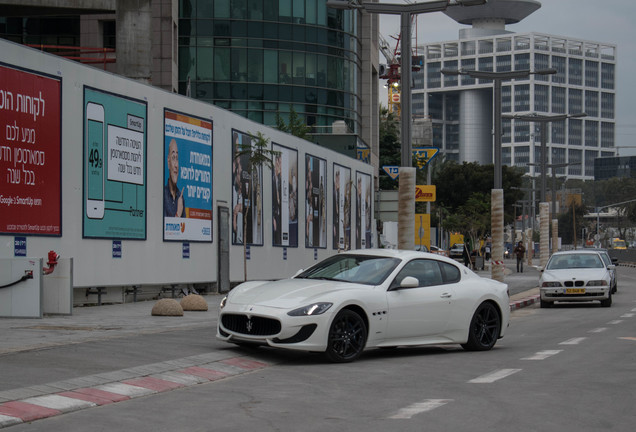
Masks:
[[[234,288],[228,301],[237,305],[260,305],[281,309],[301,307],[314,301],[326,301],[334,292],[370,289],[369,285],[316,279],[284,279],[262,284],[243,284]]]

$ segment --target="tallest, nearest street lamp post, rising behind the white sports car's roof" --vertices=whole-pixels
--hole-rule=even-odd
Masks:
[[[400,15],[401,51],[400,81],[402,94],[401,111],[401,165],[398,207],[398,248],[415,247],[415,168],[411,143],[411,17],[413,15],[441,12],[449,6],[477,6],[486,0],[433,0],[422,3],[371,3],[358,0],[330,0],[327,7],[334,9],[360,9],[372,14]]]

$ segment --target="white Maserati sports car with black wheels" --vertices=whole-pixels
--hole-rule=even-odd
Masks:
[[[390,249],[333,255],[291,279],[245,282],[220,304],[217,338],[324,352],[461,344],[486,351],[503,337],[508,286],[436,254]]]

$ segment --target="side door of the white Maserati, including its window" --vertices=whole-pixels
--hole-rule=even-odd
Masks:
[[[418,286],[402,288],[407,276]],[[415,259],[395,277],[387,292],[388,334],[395,338],[422,338],[443,334],[452,308],[453,286],[444,283],[437,260]]]

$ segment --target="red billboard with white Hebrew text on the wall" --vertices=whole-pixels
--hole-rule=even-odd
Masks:
[[[0,233],[62,235],[61,80],[0,66]]]

